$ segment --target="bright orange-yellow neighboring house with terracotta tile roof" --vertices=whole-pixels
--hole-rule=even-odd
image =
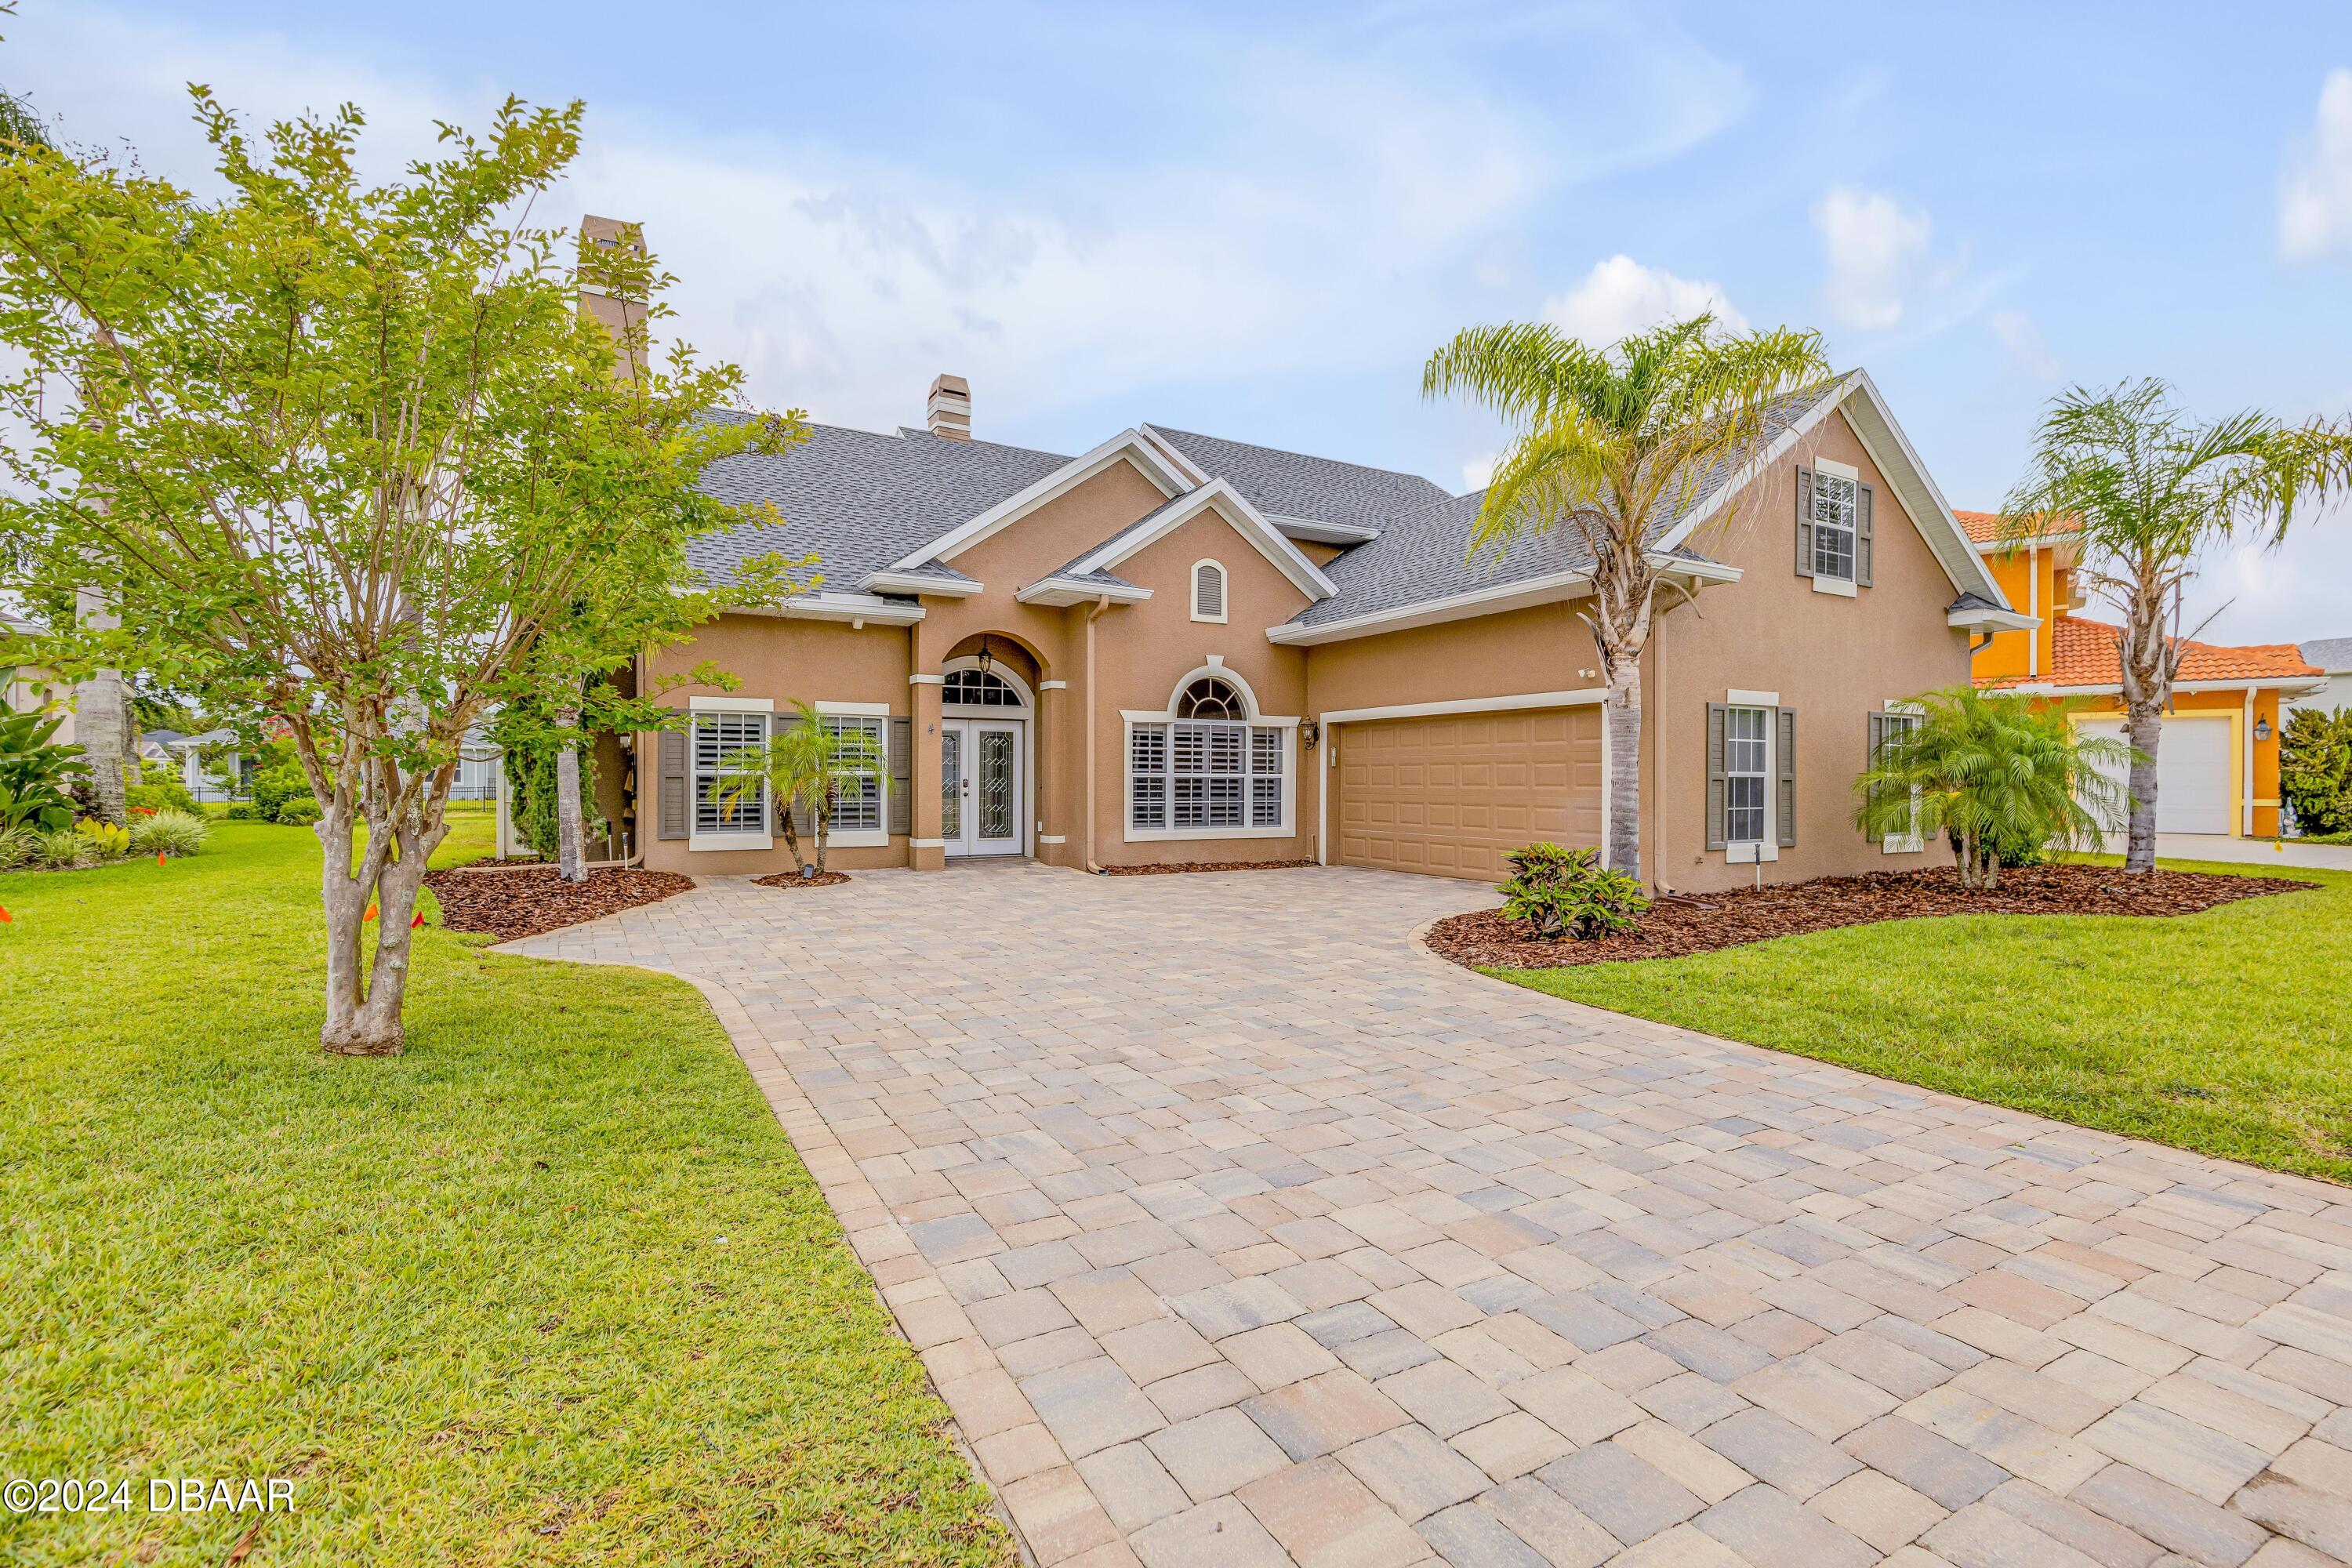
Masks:
[[[1997,512],[1955,512],[2009,602],[2042,623],[1994,632],[1976,651],[1978,686],[2082,698],[2082,729],[2124,736],[2119,628],[2084,621],[2077,529],[2006,543]],[[2326,686],[2291,642],[2187,642],[2157,750],[2157,830],[2227,837],[2279,832],[2279,710]]]

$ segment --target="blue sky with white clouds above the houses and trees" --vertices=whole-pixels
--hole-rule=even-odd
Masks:
[[[562,216],[642,219],[682,331],[816,418],[1080,451],[1150,418],[1465,489],[1456,327],[1712,299],[1865,364],[1955,505],[2042,402],[2352,414],[2352,12],[2270,5],[56,5],[0,80],[198,179],[183,82],[428,146],[590,103]],[[2352,515],[2220,552],[2209,635],[2352,635]],[[2194,618],[2192,614],[2192,618]]]

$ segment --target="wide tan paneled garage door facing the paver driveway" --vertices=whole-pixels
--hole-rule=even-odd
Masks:
[[[1503,853],[1602,839],[1602,710],[1534,708],[1338,729],[1336,860],[1510,875]]]

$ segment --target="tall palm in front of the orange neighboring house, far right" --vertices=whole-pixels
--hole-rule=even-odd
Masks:
[[[2298,505],[2345,484],[2352,425],[2286,425],[2253,409],[2194,423],[2157,378],[2051,400],[2032,470],[2002,505],[2002,536],[2079,524],[2084,583],[2122,614],[2133,750],[2126,872],[2157,867],[2157,743],[2180,644],[2194,635],[2180,630],[2180,602],[2197,555],[2239,534],[2277,545]]]

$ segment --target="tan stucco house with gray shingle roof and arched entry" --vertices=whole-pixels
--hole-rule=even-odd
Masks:
[[[1973,637],[2030,625],[1865,374],[1773,418],[1762,468],[1651,541],[1679,588],[1644,670],[1644,870],[1665,889],[1922,863],[1853,827],[1870,736],[1964,684]],[[1512,846],[1602,839],[1588,562],[1562,536],[1468,562],[1477,494],[1148,423],[1077,456],[981,442],[955,376],[924,428],[816,425],[708,482],[786,517],[701,541],[713,581],[814,550],[823,585],[640,661],[640,679],[703,658],[741,677],[677,689],[689,724],[612,757],[619,830],[652,867],[788,867],[776,804],[722,809],[717,783],[795,701],[884,755],[835,825],[849,870],[1317,860],[1491,882]]]

